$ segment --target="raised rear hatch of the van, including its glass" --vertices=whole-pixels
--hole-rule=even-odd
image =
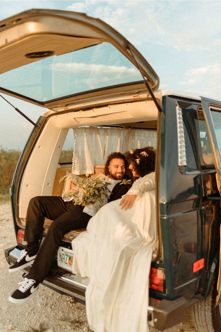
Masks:
[[[159,78],[138,50],[85,14],[32,9],[0,22],[0,92],[39,106],[140,82],[140,71],[156,91]]]

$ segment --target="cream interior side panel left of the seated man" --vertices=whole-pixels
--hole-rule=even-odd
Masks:
[[[32,197],[52,195],[59,156],[68,130],[49,121],[28,159],[19,190],[19,217],[25,218]]]

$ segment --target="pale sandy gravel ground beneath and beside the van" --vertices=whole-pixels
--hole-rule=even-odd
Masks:
[[[17,289],[18,282],[22,281],[20,271],[8,273],[8,264],[4,256],[4,250],[15,244],[10,203],[0,203],[0,331],[87,332],[84,305],[42,285],[36,295],[22,305],[8,301],[8,297]],[[157,330],[150,328],[150,332]],[[165,332],[196,332],[196,330],[188,313],[183,323]]]

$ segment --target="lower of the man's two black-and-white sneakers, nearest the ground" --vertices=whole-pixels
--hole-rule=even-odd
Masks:
[[[19,288],[9,296],[9,301],[12,303],[24,303],[38,290],[39,282],[34,279],[25,278],[19,283]]]

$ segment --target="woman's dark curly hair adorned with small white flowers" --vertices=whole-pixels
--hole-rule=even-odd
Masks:
[[[152,146],[127,151],[125,157],[140,177],[155,170],[156,152]]]

